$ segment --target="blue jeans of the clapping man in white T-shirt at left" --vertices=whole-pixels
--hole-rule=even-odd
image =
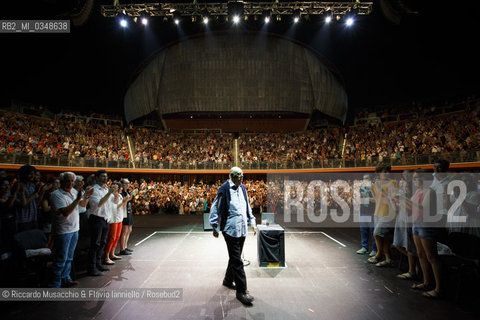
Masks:
[[[57,234],[53,237],[53,279],[50,288],[60,288],[62,281],[72,281],[70,271],[72,270],[73,254],[78,242],[78,231]]]

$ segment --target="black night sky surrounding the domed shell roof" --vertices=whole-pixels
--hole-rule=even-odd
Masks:
[[[389,22],[377,2],[374,12],[349,30],[310,22],[288,33],[337,67],[350,110],[480,93],[478,1],[417,4],[419,14],[400,25]],[[25,1],[16,3],[16,8],[0,10],[2,19],[51,19],[58,11],[38,1],[30,7]],[[123,114],[123,95],[135,70],[179,33],[160,18],[150,20],[148,30],[122,30],[115,19],[100,15],[100,4],[111,3],[96,1],[87,24],[70,34],[0,34],[0,103],[8,105],[13,98],[52,108]],[[286,34],[290,27],[282,22],[269,31]],[[225,22],[211,26],[226,28]],[[249,22],[244,28],[260,30],[260,25]],[[200,23],[183,25],[187,35],[204,30]]]

